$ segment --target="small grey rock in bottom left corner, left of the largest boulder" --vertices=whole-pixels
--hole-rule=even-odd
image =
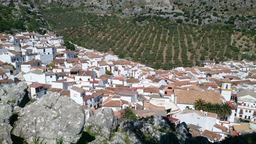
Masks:
[[[6,123],[0,123],[0,141],[4,139],[6,143],[12,143],[10,132],[13,127]]]

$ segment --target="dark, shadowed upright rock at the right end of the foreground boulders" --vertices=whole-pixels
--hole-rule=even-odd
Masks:
[[[189,133],[188,126],[185,122],[182,122],[181,124],[177,125],[176,127],[177,137],[181,144],[184,144],[186,139],[191,136]]]

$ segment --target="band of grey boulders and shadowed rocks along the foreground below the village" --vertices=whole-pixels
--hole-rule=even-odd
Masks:
[[[119,122],[112,109],[98,110],[94,114],[69,97],[51,92],[33,102],[26,89],[27,84],[23,82],[17,86],[0,85],[1,144],[210,143],[206,137],[192,137],[184,122],[176,129],[168,119],[159,116]],[[255,138],[254,132],[218,143],[251,144]]]

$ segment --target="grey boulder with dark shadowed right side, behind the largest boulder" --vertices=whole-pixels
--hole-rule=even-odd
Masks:
[[[7,95],[2,96],[1,99],[10,102],[13,107],[24,107],[31,99],[27,92],[28,85],[26,82],[20,82],[16,86],[7,89]]]

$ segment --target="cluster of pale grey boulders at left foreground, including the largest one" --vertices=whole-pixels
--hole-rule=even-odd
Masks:
[[[24,82],[0,85],[0,97],[1,143],[77,143],[82,136],[84,110],[69,97],[50,92],[26,105],[30,97]]]

